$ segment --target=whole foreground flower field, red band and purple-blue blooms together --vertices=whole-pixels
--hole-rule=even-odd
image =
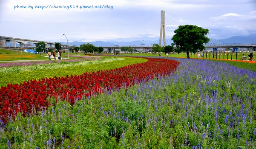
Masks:
[[[147,59],[1,87],[2,148],[256,148],[256,72],[210,60]],[[27,110],[16,95],[17,104],[31,97]]]

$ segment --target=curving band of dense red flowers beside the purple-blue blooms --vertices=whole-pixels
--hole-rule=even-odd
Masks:
[[[35,114],[50,104],[48,97],[65,99],[74,104],[76,98],[111,91],[113,88],[129,87],[136,82],[153,79],[160,74],[169,75],[179,62],[170,59],[148,59],[145,63],[133,64],[115,70],[101,70],[77,76],[54,77],[31,80],[21,84],[8,84],[0,88],[0,118],[6,122],[14,111]]]

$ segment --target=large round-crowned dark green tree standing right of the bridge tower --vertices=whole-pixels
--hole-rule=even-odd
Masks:
[[[203,51],[205,48],[204,43],[206,44],[210,41],[206,37],[209,30],[196,25],[180,25],[174,33],[172,38],[173,43],[181,51],[187,53],[187,58],[190,58],[189,52],[196,53],[198,50]]]

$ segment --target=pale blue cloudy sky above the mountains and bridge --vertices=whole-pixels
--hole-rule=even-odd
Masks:
[[[187,24],[214,39],[256,34],[256,0],[0,0],[0,8],[0,36],[47,42],[159,40],[161,10],[168,41]]]

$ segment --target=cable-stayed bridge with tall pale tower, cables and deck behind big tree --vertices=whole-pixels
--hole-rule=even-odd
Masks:
[[[166,14],[165,11],[161,11],[160,23],[159,17],[152,17],[149,22],[146,22],[146,26],[141,28],[141,30],[133,33],[129,38],[137,38],[138,43],[131,45],[136,51],[150,51],[153,43],[149,43],[148,41],[151,39],[154,42],[157,42],[160,46],[171,45],[171,38],[174,35],[174,31],[181,24],[181,20],[177,20],[174,17]],[[160,28],[159,28],[160,25]],[[159,34],[160,33],[160,34]],[[158,36],[159,35],[159,36]],[[108,51],[120,50],[122,45],[113,45],[111,47],[104,47],[108,49]],[[238,51],[239,48],[243,49],[243,51],[248,51],[249,49],[256,49],[256,44],[244,44],[244,45],[225,45],[222,42],[219,42],[217,39],[210,38],[210,41],[204,45],[207,50],[211,51],[227,51],[233,50]],[[174,46],[176,47],[176,46]]]

